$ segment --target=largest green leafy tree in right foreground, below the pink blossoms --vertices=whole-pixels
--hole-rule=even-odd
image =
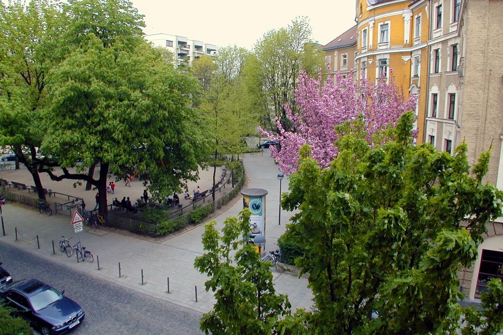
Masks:
[[[373,147],[363,120],[339,126],[345,135],[326,169],[309,157],[309,146],[301,149],[300,170],[282,200],[283,208],[297,211],[288,229],[305,249],[296,264],[314,294],[312,311],[284,321],[297,333],[459,329],[457,272],[476,259],[485,224],[501,215],[503,196],[482,183],[488,153],[470,170],[465,143],[453,156],[430,144],[412,145],[412,122],[412,113],[404,114],[388,130],[391,141]],[[491,294],[489,310],[497,311],[500,286]],[[379,317],[371,321],[374,311]],[[500,325],[488,328],[501,331]]]

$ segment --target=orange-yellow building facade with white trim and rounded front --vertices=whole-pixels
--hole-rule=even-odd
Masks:
[[[428,1],[357,0],[358,79],[394,78],[405,99],[417,95],[417,144],[425,137],[428,81]],[[423,66],[421,64],[424,64]]]

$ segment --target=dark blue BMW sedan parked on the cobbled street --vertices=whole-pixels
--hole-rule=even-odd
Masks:
[[[61,334],[78,325],[85,313],[75,301],[36,279],[0,286],[0,296],[42,334]]]

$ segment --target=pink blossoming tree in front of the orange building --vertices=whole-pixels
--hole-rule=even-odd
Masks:
[[[409,95],[404,101],[403,92],[398,90],[392,77],[389,85],[384,79],[375,83],[365,78],[358,85],[352,78],[353,71],[347,78],[338,73],[336,83],[329,77],[323,85],[321,71],[317,78],[301,73],[295,90],[299,112],[293,113],[288,105],[285,106],[293,130],[285,131],[278,118],[279,135],[259,128],[269,139],[280,142],[281,151],[271,146],[271,154],[283,173],[298,170],[299,149],[304,144],[311,146],[311,156],[319,166],[327,167],[338,153],[333,145],[339,136],[335,129],[337,125],[362,117],[367,140],[371,142],[373,135],[393,126],[404,112],[415,108],[415,95]]]

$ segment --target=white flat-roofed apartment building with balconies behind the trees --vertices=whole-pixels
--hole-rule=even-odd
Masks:
[[[182,62],[192,65],[195,58],[204,54],[214,55],[217,50],[214,44],[191,40],[184,36],[159,33],[144,35],[143,38],[153,46],[163,47],[171,51],[175,56],[177,66]]]

